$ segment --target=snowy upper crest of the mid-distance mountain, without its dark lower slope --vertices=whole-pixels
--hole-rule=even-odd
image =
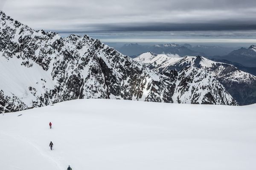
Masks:
[[[167,71],[169,69],[182,70],[188,65],[195,66],[197,68],[203,68],[205,70],[211,71],[211,73],[217,77],[225,77],[233,73],[232,79],[230,81],[247,81],[251,82],[250,79],[256,80],[256,77],[252,74],[240,71],[233,65],[215,62],[202,56],[184,56],[184,57],[169,57],[165,54],[152,54],[144,53],[135,58],[135,60],[145,63],[151,69],[158,71]],[[228,71],[228,72],[227,72]],[[241,74],[244,79],[241,79]]]

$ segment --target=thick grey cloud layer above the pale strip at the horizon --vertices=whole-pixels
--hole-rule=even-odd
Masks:
[[[0,0],[3,11],[55,31],[256,30],[256,0]]]

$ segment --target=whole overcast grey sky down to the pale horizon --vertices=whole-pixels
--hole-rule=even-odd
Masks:
[[[0,0],[0,10],[63,37],[74,33],[102,42],[256,43],[256,0]]]

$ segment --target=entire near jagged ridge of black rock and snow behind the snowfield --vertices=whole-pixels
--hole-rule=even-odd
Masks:
[[[160,74],[87,35],[35,31],[3,11],[0,71],[0,113],[82,98],[237,104],[200,68]]]

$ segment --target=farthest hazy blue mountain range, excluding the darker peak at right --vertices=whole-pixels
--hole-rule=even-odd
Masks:
[[[158,45],[139,45],[139,44],[125,44],[117,50],[122,54],[128,55],[132,58],[139,54],[151,51],[156,54],[178,54],[182,56],[222,56],[227,55],[236,48],[226,48],[221,46],[206,46],[206,45],[189,45],[189,44],[158,44]]]

